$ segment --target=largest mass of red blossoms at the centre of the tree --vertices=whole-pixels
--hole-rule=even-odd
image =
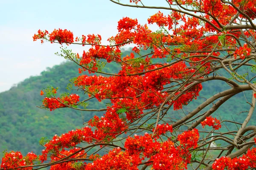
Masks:
[[[132,58],[133,55],[131,55]],[[128,56],[129,57],[129,56]],[[128,59],[125,57],[125,59]],[[129,63],[129,61],[127,61]],[[145,62],[141,61],[139,65]],[[133,68],[122,66],[121,71],[128,74]],[[148,71],[143,76],[119,76],[119,77],[103,77],[103,76],[87,76],[82,75],[74,81],[76,86],[85,89],[89,96],[95,96],[96,99],[111,99],[112,107],[116,110],[127,108],[126,118],[128,120],[135,119],[143,113],[143,109],[159,106],[165,101],[168,94],[161,92],[163,86],[170,83],[170,79],[182,79],[189,74],[184,62],[177,62],[174,65],[162,69],[159,65],[151,65],[146,69]],[[143,68],[140,68],[143,69]],[[150,71],[156,69],[155,71]],[[133,73],[133,72],[132,72]],[[176,99],[174,109],[182,108],[192,99],[196,99],[201,91],[201,84],[190,88],[182,97]],[[168,102],[166,103],[168,104]]]

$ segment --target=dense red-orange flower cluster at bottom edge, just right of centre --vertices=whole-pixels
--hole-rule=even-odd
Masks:
[[[186,164],[191,158],[188,150],[184,150],[180,146],[175,148],[174,143],[170,140],[163,143],[157,142],[148,133],[145,133],[144,136],[128,137],[125,148],[130,155],[143,153],[141,159],[149,158],[148,165],[152,165],[154,170],[181,170],[186,168]]]

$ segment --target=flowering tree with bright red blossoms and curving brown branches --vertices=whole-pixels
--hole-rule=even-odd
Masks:
[[[148,18],[149,25],[159,27],[155,32],[137,19],[123,17],[118,22],[118,34],[108,39],[110,45],[102,45],[100,35],[74,38],[66,29],[51,33],[39,30],[33,38],[42,43],[90,45],[81,54],[62,47],[57,55],[76,62],[80,73],[99,74],[72,79],[68,87],[84,91],[83,99],[76,94],[57,97],[57,88],[45,88],[41,107],[105,114],[94,116],[81,129],[51,140],[42,138],[45,149],[39,156],[5,153],[1,169],[181,170],[188,164],[205,170],[256,167],[256,148],[252,148],[256,126],[247,125],[256,103],[256,76],[249,75],[256,72],[256,1],[166,0],[166,7],[146,6],[141,0],[130,0],[129,4],[110,1],[130,8],[167,10],[169,14],[159,11]],[[128,44],[134,45],[133,52],[122,56],[120,48]],[[141,55],[143,50],[150,52]],[[118,73],[102,71],[109,62],[121,65]],[[218,74],[219,70],[229,76]],[[195,102],[202,82],[213,84],[213,80],[225,82],[229,89],[188,113],[177,111]],[[235,122],[211,116],[243,91],[252,92],[252,99],[247,101],[250,105],[244,108],[249,110],[246,119]],[[88,109],[87,101],[93,98],[110,102],[106,108]],[[238,130],[220,130],[224,122]],[[221,142],[225,145],[219,146]]]

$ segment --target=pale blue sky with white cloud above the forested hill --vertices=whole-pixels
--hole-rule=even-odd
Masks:
[[[144,5],[166,5],[165,0],[144,1]],[[108,37],[117,33],[117,22],[122,17],[137,18],[145,24],[157,12],[119,6],[109,0],[0,0],[0,92],[65,61],[54,54],[60,51],[59,44],[33,42],[32,36],[38,29],[49,32],[54,28],[67,29],[74,37],[100,34],[102,42],[107,44]],[[81,53],[90,46],[69,48]]]

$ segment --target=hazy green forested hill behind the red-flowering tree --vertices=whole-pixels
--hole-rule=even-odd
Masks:
[[[128,52],[127,52],[128,53]],[[126,54],[127,54],[126,53]],[[126,55],[124,54],[124,55]],[[117,72],[118,65],[107,64],[108,71]],[[0,150],[7,149],[19,150],[23,154],[27,152],[41,153],[44,149],[38,141],[46,136],[50,139],[55,134],[62,134],[72,129],[81,128],[83,122],[87,122],[93,115],[101,115],[99,112],[81,112],[68,108],[56,109],[50,112],[37,108],[40,106],[43,96],[40,96],[41,88],[47,86],[59,87],[58,94],[69,92],[65,88],[69,80],[79,76],[78,66],[73,62],[64,62],[61,65],[55,65],[53,68],[47,68],[40,76],[30,77],[23,82],[12,87],[9,91],[0,93]],[[216,81],[215,84],[203,83],[203,90],[195,102],[189,103],[184,108],[184,113],[192,111],[200,102],[205,101],[213,94],[230,88],[227,84]],[[81,92],[71,91],[69,93]],[[238,94],[230,101],[221,106],[220,110],[213,116],[221,116],[221,119],[230,119],[243,122],[247,113],[241,111],[249,110],[250,105],[246,103],[244,97],[251,100],[251,93]],[[91,102],[90,108],[105,108],[103,102]],[[171,111],[172,115],[183,114],[183,111]],[[231,118],[232,119],[232,118]],[[256,118],[253,117],[250,124],[256,124]],[[237,127],[231,127],[237,128]],[[2,152],[0,157],[2,157]]]

